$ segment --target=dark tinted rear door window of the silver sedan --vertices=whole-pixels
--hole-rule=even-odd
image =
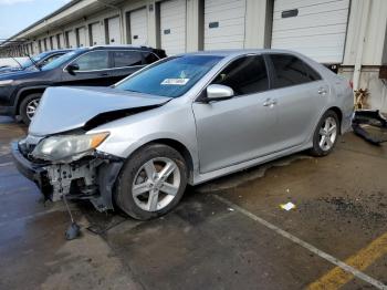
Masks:
[[[273,87],[284,87],[320,80],[321,76],[300,59],[289,54],[270,54],[274,66]]]

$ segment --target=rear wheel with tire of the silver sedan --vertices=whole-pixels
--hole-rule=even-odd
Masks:
[[[339,122],[337,114],[333,111],[327,111],[314,132],[312,155],[325,156],[330,154],[337,142],[338,134]]]

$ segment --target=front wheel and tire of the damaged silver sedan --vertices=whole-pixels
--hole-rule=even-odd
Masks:
[[[187,165],[180,153],[151,144],[124,165],[115,188],[115,203],[135,219],[148,220],[169,213],[187,185]]]

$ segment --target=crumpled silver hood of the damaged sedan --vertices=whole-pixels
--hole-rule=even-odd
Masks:
[[[154,107],[169,100],[112,87],[49,87],[31,122],[29,134],[45,136],[81,128],[103,113]]]

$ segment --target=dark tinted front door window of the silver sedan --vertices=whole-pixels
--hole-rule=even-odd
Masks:
[[[240,58],[229,64],[212,84],[230,86],[236,95],[269,90],[269,77],[262,55]]]

